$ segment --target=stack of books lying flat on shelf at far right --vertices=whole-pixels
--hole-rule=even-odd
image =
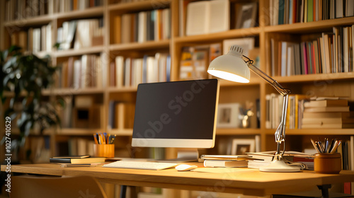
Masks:
[[[353,112],[348,100],[340,98],[312,98],[304,103],[302,128],[354,128]]]

